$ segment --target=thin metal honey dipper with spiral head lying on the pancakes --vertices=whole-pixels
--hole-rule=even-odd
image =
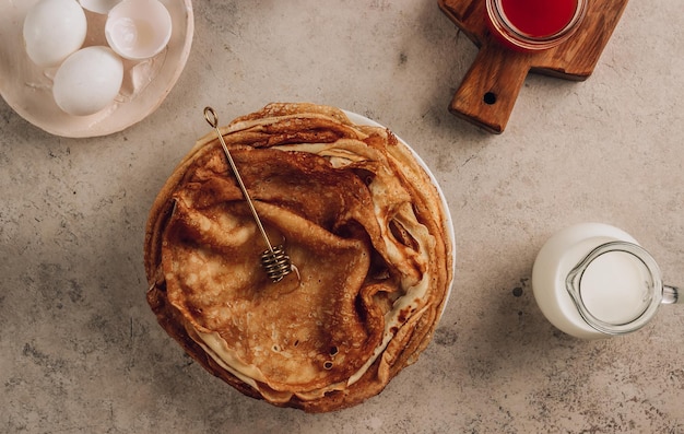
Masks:
[[[283,278],[290,274],[293,270],[296,272],[297,269],[294,265],[292,265],[290,260],[290,256],[285,253],[283,245],[279,245],[273,247],[271,242],[269,241],[266,231],[263,230],[263,225],[261,224],[261,220],[259,219],[259,214],[257,214],[257,210],[247,192],[247,188],[245,188],[245,183],[243,183],[243,178],[240,177],[239,172],[237,172],[237,167],[235,166],[235,162],[231,156],[231,152],[228,152],[228,148],[223,140],[223,134],[219,130],[219,117],[216,113],[211,107],[204,107],[204,119],[212,126],[212,128],[216,131],[216,136],[219,136],[219,141],[221,141],[221,146],[223,148],[223,152],[225,153],[226,159],[228,160],[228,164],[231,165],[231,169],[237,179],[237,184],[243,191],[243,196],[247,200],[247,204],[251,210],[251,215],[255,218],[255,222],[257,223],[257,227],[259,227],[259,232],[261,233],[261,237],[266,242],[267,249],[261,254],[261,266],[266,270],[268,277],[273,281],[273,283],[280,282]],[[297,272],[298,274],[298,272]]]

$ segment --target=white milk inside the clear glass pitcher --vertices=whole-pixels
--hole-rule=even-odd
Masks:
[[[570,270],[592,249],[614,241],[637,244],[617,227],[581,223],[556,233],[539,251],[532,269],[532,291],[544,316],[558,329],[583,339],[608,337],[582,319],[565,281]],[[635,306],[642,305],[638,301],[641,271],[635,267],[636,258],[629,256],[610,254],[605,258],[599,257],[582,277],[585,305],[602,320],[630,320],[639,309]]]

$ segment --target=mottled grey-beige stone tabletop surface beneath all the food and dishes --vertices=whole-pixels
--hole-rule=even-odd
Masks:
[[[577,222],[633,234],[684,282],[684,3],[634,1],[583,83],[530,77],[507,130],[447,113],[474,46],[436,1],[194,2],[193,50],[158,110],[105,138],[47,134],[0,101],[0,432],[684,433],[684,308],[604,341],[555,330],[530,288]],[[2,78],[0,78],[2,80]],[[308,415],[245,398],[161,330],[148,211],[208,132],[271,101],[366,115],[441,184],[452,297],[420,361],[366,403]]]

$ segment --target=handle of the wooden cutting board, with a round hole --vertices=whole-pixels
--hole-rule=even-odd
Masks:
[[[457,90],[449,110],[482,128],[502,133],[535,54],[483,45]]]

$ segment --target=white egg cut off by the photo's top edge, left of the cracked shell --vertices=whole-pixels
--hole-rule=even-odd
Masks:
[[[24,19],[28,58],[40,67],[59,64],[85,40],[87,21],[76,0],[40,0]]]

